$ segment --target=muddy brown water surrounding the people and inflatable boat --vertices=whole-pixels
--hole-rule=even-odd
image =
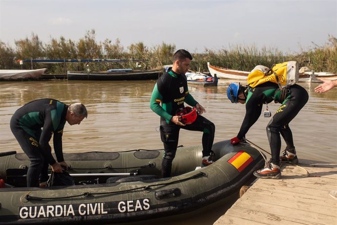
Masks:
[[[245,115],[244,105],[232,104],[226,97],[230,82],[221,80],[218,87],[210,88],[189,87],[193,97],[206,108],[204,116],[216,126],[215,142],[236,136]],[[88,118],[81,125],[66,123],[63,152],[162,149],[158,133],[159,117],[149,109],[154,84],[155,81],[1,82],[0,152],[21,152],[10,131],[9,121],[19,107],[38,98],[54,98],[67,104],[82,102],[87,107]],[[336,163],[337,89],[315,93],[314,88],[318,84],[300,85],[308,90],[310,97],[290,123],[297,155],[299,158]],[[272,103],[269,109],[275,112],[278,106]],[[261,116],[246,137],[270,152],[265,128],[268,122],[268,118]],[[182,130],[179,145],[201,144],[201,136],[200,132]],[[284,146],[283,142],[282,150]],[[217,219],[217,210],[211,210],[215,213],[208,221]],[[185,224],[205,224],[195,216],[184,220]]]

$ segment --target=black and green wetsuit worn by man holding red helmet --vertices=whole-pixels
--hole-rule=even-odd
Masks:
[[[193,107],[197,104],[189,93],[185,74],[177,74],[172,70],[163,74],[154,86],[150,101],[151,110],[160,115],[160,135],[165,150],[162,161],[163,177],[170,177],[181,128],[203,132],[202,155],[203,157],[210,156],[211,153],[215,133],[215,126],[211,121],[198,115],[196,120],[189,125],[178,126],[171,122],[171,118],[177,110],[184,108],[184,102]]]

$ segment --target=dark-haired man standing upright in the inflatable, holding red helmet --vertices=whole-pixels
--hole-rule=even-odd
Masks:
[[[202,136],[202,165],[213,163],[210,156],[213,145],[215,126],[201,114],[206,112],[189,93],[185,73],[190,67],[192,56],[184,49],[178,50],[173,55],[173,67],[163,74],[154,86],[150,108],[160,116],[160,135],[164,143],[164,158],[162,160],[162,176],[170,177],[172,161],[177,151],[179,130],[183,128],[189,131],[203,132]],[[195,120],[190,124],[184,123],[181,115],[176,115],[179,109],[184,109],[184,103],[195,107],[199,112]],[[160,106],[162,103],[162,106]],[[197,113],[195,113],[197,114]]]

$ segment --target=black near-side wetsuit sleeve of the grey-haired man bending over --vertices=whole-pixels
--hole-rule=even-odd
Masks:
[[[51,139],[51,135],[53,134],[53,130],[54,129],[51,119],[51,113],[46,113],[39,143],[50,165],[53,165],[56,162],[53,155],[51,154],[51,147],[49,145],[49,141]]]

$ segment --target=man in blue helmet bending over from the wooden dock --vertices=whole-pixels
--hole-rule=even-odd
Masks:
[[[278,85],[273,82],[266,82],[255,88],[244,87],[240,84],[232,83],[227,89],[227,96],[232,103],[246,103],[246,115],[239,133],[236,137],[231,139],[232,145],[245,140],[245,135],[248,130],[253,126],[261,114],[263,103],[268,104],[274,100],[275,103],[282,104],[267,125],[267,136],[272,152],[272,158],[267,163],[266,168],[254,172],[254,176],[258,178],[279,179],[281,177],[280,162],[291,164],[298,163],[293,134],[288,124],[307,103],[309,96],[304,88],[296,84],[288,86],[284,91],[285,92],[282,94],[281,90],[278,89]],[[269,117],[269,113],[270,112],[267,111],[265,116]],[[280,134],[287,144],[284,154],[281,157]]]

